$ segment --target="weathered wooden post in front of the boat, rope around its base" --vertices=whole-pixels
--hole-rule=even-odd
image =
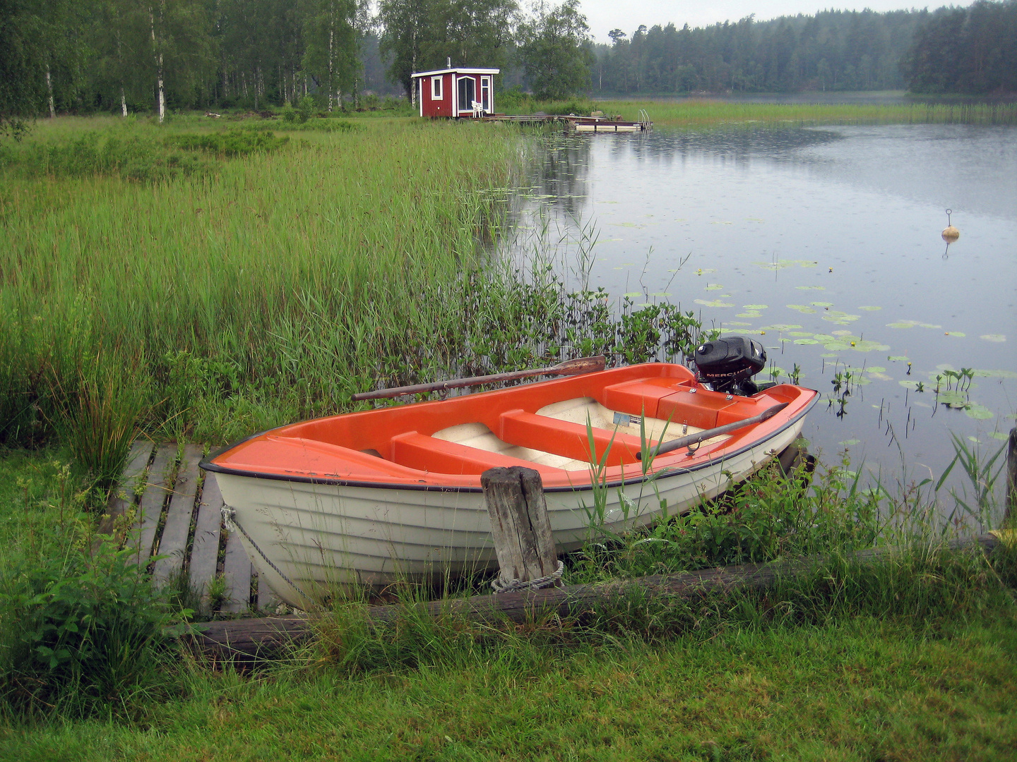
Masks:
[[[491,517],[501,580],[527,582],[553,574],[558,556],[540,473],[518,465],[489,468],[480,474],[480,485]]]

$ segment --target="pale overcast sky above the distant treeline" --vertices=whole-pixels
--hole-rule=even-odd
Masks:
[[[553,2],[553,0],[552,0]],[[931,8],[947,4],[945,0]],[[963,0],[961,4],[966,4]],[[524,7],[527,3],[521,3]],[[815,13],[817,10],[833,7],[838,10],[862,10],[871,8],[876,11],[900,10],[909,7],[901,0],[872,0],[871,2],[851,3],[844,5],[820,5],[816,0],[713,0],[713,2],[692,2],[691,0],[582,0],[583,12],[590,24],[590,34],[598,43],[609,42],[607,33],[619,28],[632,37],[641,23],[661,26],[673,21],[681,28],[682,24],[690,26],[706,26],[717,21],[736,21],[756,14],[756,19],[765,21],[777,16],[795,15],[797,13]],[[923,8],[924,4],[917,7]]]

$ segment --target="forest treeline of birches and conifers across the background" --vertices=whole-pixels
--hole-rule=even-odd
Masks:
[[[595,44],[579,0],[0,0],[0,127],[58,111],[323,109],[384,81],[497,66],[538,97],[907,87],[1017,89],[1017,0],[820,11]],[[392,90],[390,90],[392,91]]]

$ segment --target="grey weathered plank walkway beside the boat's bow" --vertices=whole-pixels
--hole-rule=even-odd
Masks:
[[[157,585],[186,581],[202,606],[218,587],[221,612],[274,613],[280,601],[258,584],[239,535],[224,527],[223,496],[215,477],[197,467],[201,455],[199,445],[134,442],[100,530],[111,533],[118,517],[132,513],[126,543]]]

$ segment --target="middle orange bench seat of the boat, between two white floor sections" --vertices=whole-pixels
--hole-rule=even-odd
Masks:
[[[522,409],[506,410],[498,416],[496,431],[498,438],[505,442],[586,462],[590,462],[590,432],[592,432],[597,460],[599,461],[610,447],[612,465],[618,461],[636,462],[636,453],[642,446],[640,438],[630,434],[615,434],[595,428],[588,431],[587,427],[579,424]]]

